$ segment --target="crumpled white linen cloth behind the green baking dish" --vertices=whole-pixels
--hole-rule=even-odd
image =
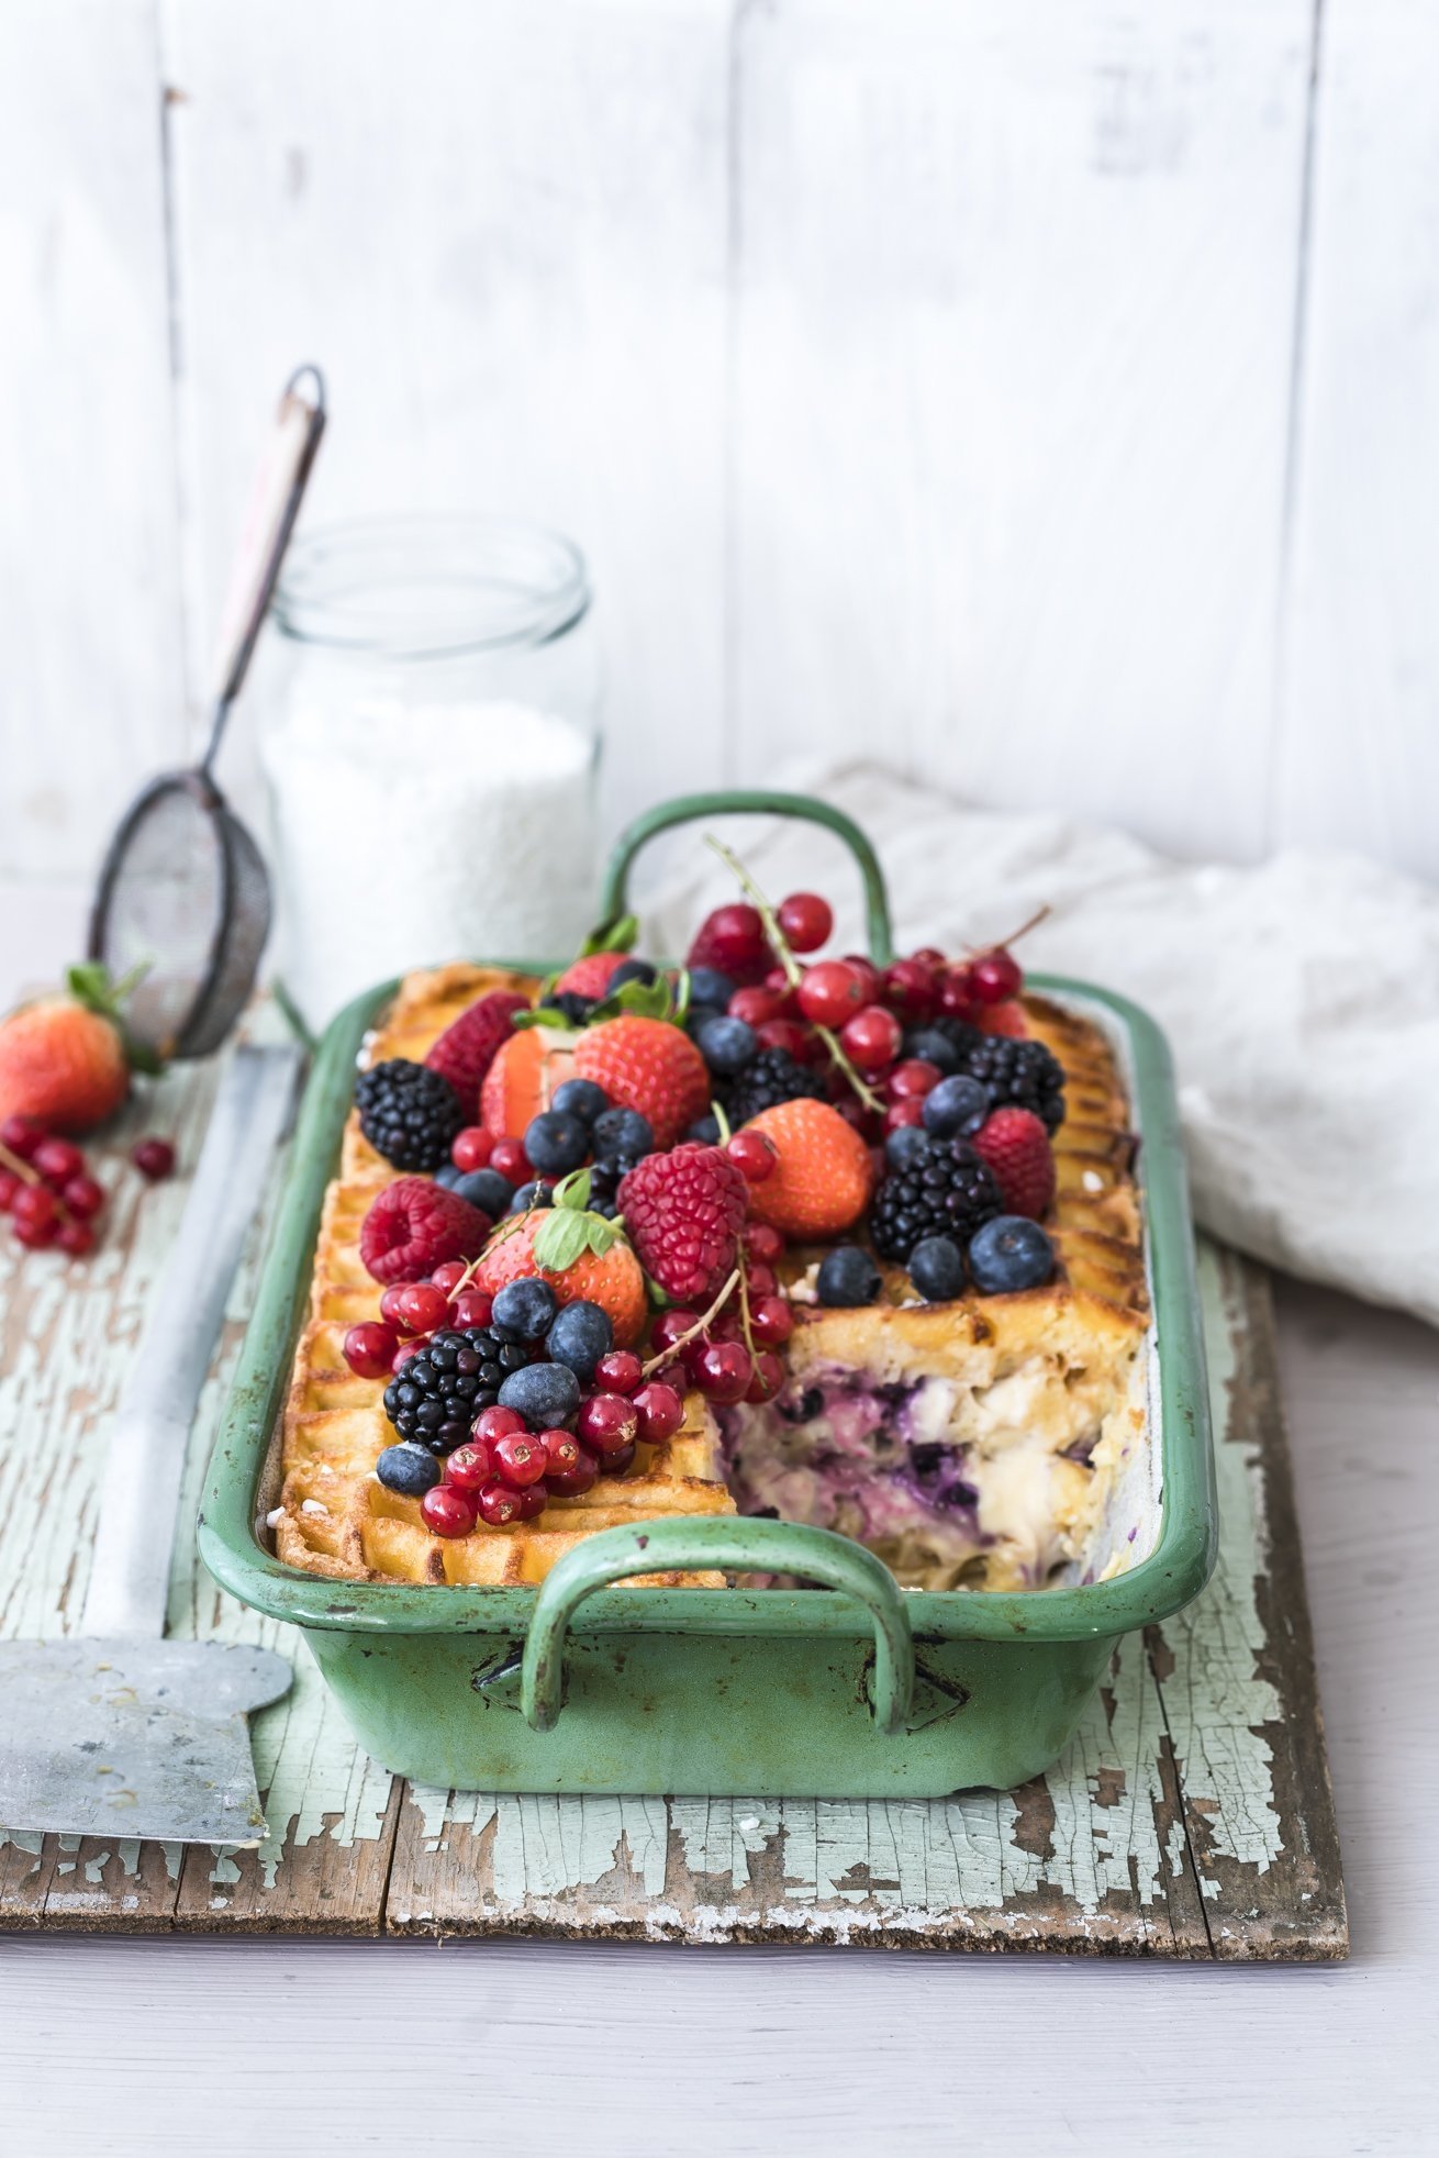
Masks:
[[[869,764],[775,783],[869,833],[902,952],[984,945],[1049,904],[1020,960],[1122,991],[1169,1036],[1200,1224],[1439,1325],[1439,891],[1357,855],[1195,868]],[[643,902],[647,950],[682,952],[703,911],[738,898],[690,835]],[[831,950],[863,950],[859,880],[831,833],[746,818],[725,839],[768,898],[824,891]]]

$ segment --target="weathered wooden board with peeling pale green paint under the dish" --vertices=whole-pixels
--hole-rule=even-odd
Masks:
[[[192,1161],[209,1077],[129,1124]],[[119,1135],[117,1150],[129,1129]],[[0,1247],[0,1625],[78,1610],[112,1407],[183,1185],[117,1172],[86,1267]],[[201,1405],[188,1517],[250,1303],[263,1224]],[[1206,1247],[1223,1556],[1182,1614],[1115,1653],[1068,1757],[1020,1791],[943,1802],[490,1798],[403,1787],[356,1750],[302,1642],[222,1597],[181,1541],[170,1629],[296,1664],[255,1722],[257,1854],[0,1832],[0,1925],[554,1934],[1333,1957],[1344,1893],[1318,1720],[1266,1280]]]

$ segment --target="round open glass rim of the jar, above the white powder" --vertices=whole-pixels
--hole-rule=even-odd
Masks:
[[[272,613],[296,643],[425,660],[550,643],[589,604],[585,555],[546,524],[401,511],[298,537]]]

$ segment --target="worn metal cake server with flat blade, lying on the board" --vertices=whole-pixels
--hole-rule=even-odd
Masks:
[[[0,1824],[257,1845],[250,1709],[289,1690],[270,1649],[166,1640],[190,1424],[246,1232],[289,1122],[298,1051],[224,1068],[179,1234],[110,1431],[80,1631],[0,1642]]]

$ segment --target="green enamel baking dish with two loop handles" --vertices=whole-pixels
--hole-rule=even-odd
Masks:
[[[863,833],[807,796],[662,803],[611,859],[602,917],[669,824],[775,811],[826,824],[865,883],[869,945],[891,958],[885,885]],[[531,971],[550,962],[507,960]],[[1217,1519],[1204,1336],[1169,1053],[1133,1003],[1079,982],[1033,984],[1107,1027],[1141,1137],[1154,1303],[1148,1534],[1109,1580],[990,1595],[902,1590],[861,1545],[770,1519],[669,1519],[589,1536],[539,1588],[334,1582],[265,1547],[274,1439],[304,1319],[326,1183],[354,1064],[395,984],[358,997],[315,1055],[280,1213],[198,1521],[216,1580],[298,1625],[360,1744],[416,1783],[479,1791],[938,1798],[1010,1789],[1068,1744],[1115,1640],[1180,1610],[1208,1580]],[[796,1575],[807,1588],[617,1588],[645,1571]]]

